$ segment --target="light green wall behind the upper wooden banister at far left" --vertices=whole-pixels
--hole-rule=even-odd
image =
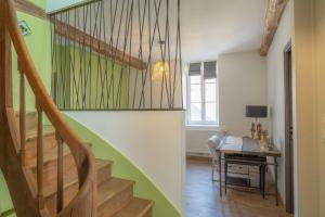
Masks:
[[[37,5],[46,8],[47,0],[31,0]],[[28,50],[32,56],[36,68],[44,82],[48,90],[51,87],[51,30],[50,23],[21,12],[17,12],[18,21],[26,21],[31,29],[31,35],[25,36]],[[17,72],[17,56],[14,48],[12,49],[13,62],[13,94],[14,107],[18,110],[20,105],[20,73]],[[35,110],[35,98],[28,85],[26,85],[26,108],[27,111]],[[0,173],[0,210],[5,212],[13,207],[11,197],[2,174]],[[0,212],[0,213],[1,213]],[[12,215],[15,216],[15,215]]]

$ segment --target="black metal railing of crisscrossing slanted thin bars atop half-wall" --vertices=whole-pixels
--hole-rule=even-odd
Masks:
[[[61,110],[182,110],[180,0],[98,0],[50,14]]]

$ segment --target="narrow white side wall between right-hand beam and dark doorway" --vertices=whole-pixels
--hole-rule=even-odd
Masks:
[[[294,34],[294,1],[290,0],[282,16],[266,58],[268,104],[270,106],[269,129],[275,145],[281,150],[280,193],[285,202],[285,89],[284,89],[284,49]]]

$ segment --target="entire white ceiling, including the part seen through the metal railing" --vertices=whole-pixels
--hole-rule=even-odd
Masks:
[[[79,0],[72,0],[79,1]],[[164,39],[166,34],[166,10],[167,0],[150,0],[151,4],[151,17],[152,17],[152,31],[155,26],[156,13],[154,10],[153,2],[161,2],[161,9],[158,16],[159,21],[159,33]],[[112,8],[109,3],[112,3]],[[120,50],[129,50],[129,46],[125,47],[123,36],[125,26],[127,25],[126,12],[122,9],[122,1],[119,0],[106,0],[104,1],[104,20],[106,29],[106,39],[113,35],[113,44]],[[128,1],[126,1],[128,2]],[[130,1],[131,2],[131,1]],[[138,14],[138,2],[140,2],[141,13],[143,13],[143,4],[147,2],[146,0],[133,0],[134,12],[133,12],[133,28],[129,33],[132,35],[132,51],[133,56],[139,56],[139,48],[142,43],[143,60],[148,60],[151,39],[148,31],[148,20],[144,20],[144,30],[142,36],[142,42],[140,43],[140,25],[139,25],[139,14]],[[99,2],[98,2],[99,3]],[[112,13],[115,5],[117,7],[117,18],[113,34],[110,33],[110,22]],[[182,40],[182,58],[183,61],[206,61],[216,60],[222,53],[240,52],[248,50],[259,49],[262,40],[264,14],[265,14],[266,0],[181,0],[181,40]],[[104,22],[100,22],[102,15],[99,14],[99,4],[92,4],[92,26],[94,26],[94,21],[98,20],[98,26],[104,25]],[[126,9],[127,7],[125,7]],[[80,9],[80,23],[82,23],[82,10]],[[90,12],[89,12],[90,13]],[[88,14],[89,14],[88,13]],[[146,11],[146,17],[148,12]],[[121,29],[118,30],[118,21],[122,16]],[[64,17],[64,16],[63,16]],[[94,18],[98,17],[98,18]],[[142,16],[141,16],[142,17]],[[88,15],[87,33],[90,33],[90,15]],[[169,18],[170,18],[170,50],[171,59],[174,59],[174,50],[177,43],[177,0],[170,0],[169,7]],[[74,16],[70,15],[69,23],[74,24]],[[82,25],[79,27],[80,29]],[[120,33],[120,34],[118,34]],[[161,49],[158,43],[160,40],[158,37],[158,30],[155,31],[152,59],[161,60]],[[101,31],[100,38],[104,40],[104,33]],[[173,56],[172,56],[173,55]]]

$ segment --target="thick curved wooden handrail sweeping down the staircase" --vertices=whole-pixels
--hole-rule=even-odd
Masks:
[[[42,111],[47,114],[48,118],[56,129],[62,140],[69,146],[70,152],[76,162],[78,179],[79,179],[79,192],[72,200],[72,202],[62,209],[58,216],[78,216],[82,212],[82,216],[95,215],[95,163],[94,157],[87,146],[86,142],[79,138],[79,136],[68,126],[58,108],[55,106],[51,97],[48,94],[46,87],[43,86],[35,64],[30,58],[27,46],[22,37],[21,29],[18,27],[16,9],[13,0],[5,0],[5,27],[10,33],[11,40],[16,50],[20,64],[24,68],[24,74],[28,80],[28,84],[36,97],[36,101]],[[92,205],[91,210],[84,212],[86,203],[87,207]],[[74,215],[72,215],[74,213]],[[87,215],[88,214],[88,215]]]

